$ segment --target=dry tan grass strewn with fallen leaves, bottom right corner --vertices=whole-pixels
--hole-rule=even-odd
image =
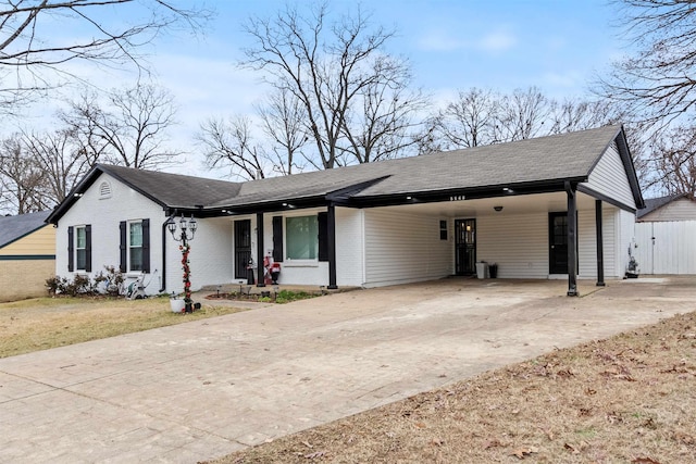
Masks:
[[[679,315],[212,463],[696,462],[695,356]]]

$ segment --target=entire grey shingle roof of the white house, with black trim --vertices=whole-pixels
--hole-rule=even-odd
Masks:
[[[502,195],[502,188],[518,193],[558,191],[564,181],[586,181],[614,141],[635,202],[642,206],[620,125],[246,183],[97,165],[75,193],[107,173],[170,211],[216,215],[227,210],[272,211],[285,203],[319,205],[327,200],[362,206],[403,202],[407,196],[427,201],[443,201],[447,195],[483,198]],[[57,222],[77,197],[71,196],[59,205],[49,221]]]

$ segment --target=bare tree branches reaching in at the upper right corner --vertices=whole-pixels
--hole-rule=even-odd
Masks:
[[[691,192],[696,116],[696,8],[691,0],[616,0],[635,49],[599,77],[594,91],[624,111],[643,186]],[[680,146],[680,143],[682,146]],[[681,189],[681,191],[680,191]]]

